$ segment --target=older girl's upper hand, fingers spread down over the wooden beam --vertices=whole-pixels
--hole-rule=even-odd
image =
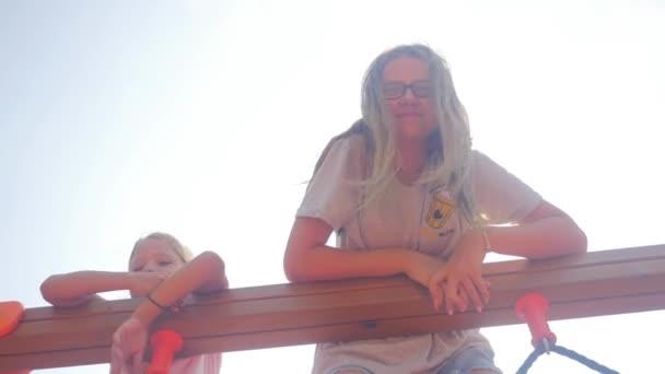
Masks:
[[[489,282],[482,278],[482,260],[486,248],[482,231],[475,229],[462,236],[445,267],[441,267],[430,279],[430,293],[434,307],[441,308],[444,300],[448,314],[457,308],[465,312],[470,303],[481,312],[489,302]],[[445,292],[442,290],[445,287]]]

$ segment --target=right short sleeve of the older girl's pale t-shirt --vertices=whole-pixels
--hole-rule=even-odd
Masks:
[[[478,151],[474,151],[474,190],[477,209],[490,224],[520,222],[542,201],[538,192]]]

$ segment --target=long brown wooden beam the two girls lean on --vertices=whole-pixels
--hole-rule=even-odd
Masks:
[[[528,292],[548,297],[550,319],[665,309],[665,245],[493,262],[483,273],[491,301],[480,314],[436,313],[424,288],[393,277],[228,290],[190,300],[155,328],[180,332],[182,355],[191,355],[518,324],[513,305]],[[108,362],[114,330],[141,302],[27,309],[0,338],[0,369]]]

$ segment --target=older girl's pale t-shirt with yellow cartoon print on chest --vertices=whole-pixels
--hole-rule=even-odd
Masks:
[[[338,247],[351,250],[401,247],[447,258],[471,225],[441,183],[404,185],[395,178],[385,196],[362,210],[364,148],[361,135],[338,139],[316,172],[298,217],[324,220]],[[474,151],[474,190],[489,223],[520,221],[542,200],[488,156]],[[430,373],[456,351],[489,342],[478,330],[436,332],[317,346],[314,373],[357,364],[374,373]]]

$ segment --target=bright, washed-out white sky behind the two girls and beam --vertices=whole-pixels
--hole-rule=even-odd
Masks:
[[[359,117],[372,58],[404,42],[448,59],[475,147],[573,215],[591,250],[665,243],[665,4],[497,3],[0,2],[0,300],[46,305],[46,277],[124,270],[155,230],[219,253],[234,288],[285,282],[301,183]],[[663,364],[664,317],[550,327],[640,373]],[[526,326],[483,331],[506,373],[530,352]],[[228,353],[222,372],[307,373],[312,355]],[[561,372],[587,373],[558,355],[533,370]]]

